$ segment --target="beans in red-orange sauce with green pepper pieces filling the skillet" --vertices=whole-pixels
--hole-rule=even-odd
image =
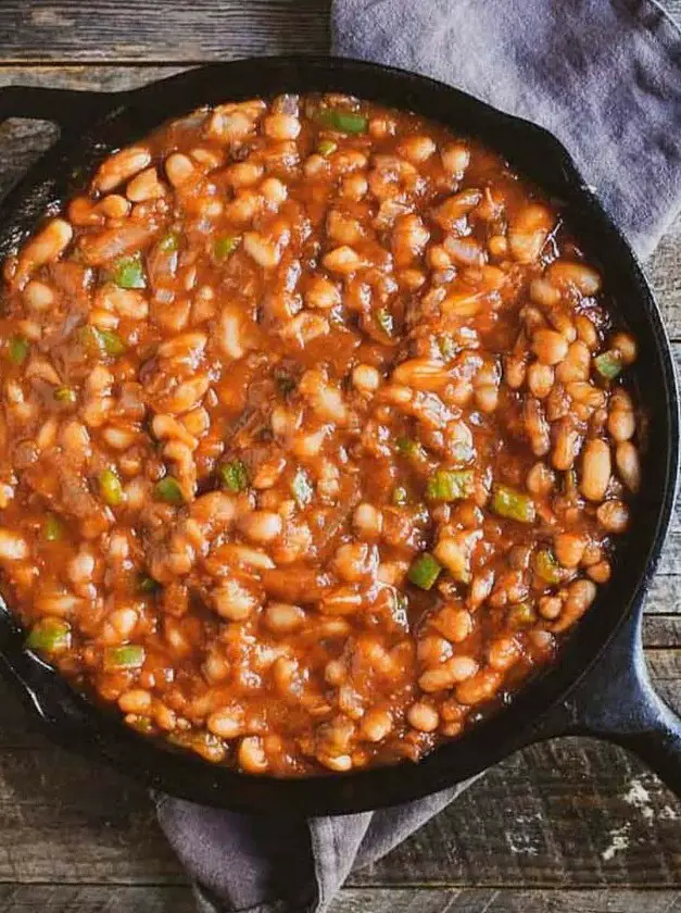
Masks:
[[[635,341],[475,141],[203,109],[102,162],[1,298],[3,586],[139,731],[274,776],[415,761],[609,578]]]

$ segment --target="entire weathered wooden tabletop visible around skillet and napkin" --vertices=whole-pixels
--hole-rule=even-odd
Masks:
[[[415,0],[418,2],[418,0]],[[666,0],[681,14],[681,0]],[[325,51],[329,0],[0,3],[0,85],[122,89],[209,60]],[[0,189],[55,137],[0,125]],[[681,360],[681,218],[648,264]],[[653,678],[681,710],[681,521],[647,601]],[[681,803],[625,751],[558,739],[491,771],[333,913],[681,910]],[[0,701],[0,911],[189,913],[144,791],[53,748]]]

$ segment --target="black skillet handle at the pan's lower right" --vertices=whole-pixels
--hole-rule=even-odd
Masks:
[[[681,718],[651,684],[639,609],[546,724],[543,737],[592,736],[632,751],[681,798]]]

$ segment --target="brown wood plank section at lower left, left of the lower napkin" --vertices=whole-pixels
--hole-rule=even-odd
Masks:
[[[182,884],[143,789],[61,751],[0,754],[0,883]]]

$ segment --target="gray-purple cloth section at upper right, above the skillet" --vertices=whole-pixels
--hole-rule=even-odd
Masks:
[[[333,50],[546,127],[641,257],[681,207],[681,32],[652,0],[335,0]]]

